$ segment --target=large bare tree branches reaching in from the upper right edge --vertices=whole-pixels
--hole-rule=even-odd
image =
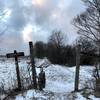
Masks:
[[[83,0],[86,11],[74,19],[78,33],[100,46],[100,0]]]

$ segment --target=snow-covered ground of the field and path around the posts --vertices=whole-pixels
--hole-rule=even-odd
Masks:
[[[27,61],[22,60],[19,62],[20,70],[24,70],[24,74],[27,72]],[[36,60],[36,66],[41,65],[44,62],[48,62],[46,59]],[[81,66],[80,68],[80,89],[86,87],[88,80],[92,77],[92,66]],[[39,68],[37,68],[39,73]],[[75,81],[75,67],[66,67],[60,65],[50,64],[45,68],[46,73],[46,87],[43,91],[39,90],[27,90],[24,93],[20,93],[13,98],[13,100],[87,100],[82,95],[82,91],[75,93],[74,81]],[[27,74],[26,74],[27,75]],[[4,88],[12,87],[16,80],[16,71],[14,61],[6,60],[0,61],[0,83],[4,84]],[[90,90],[91,91],[91,90]],[[100,100],[100,98],[89,95],[90,100]],[[12,99],[11,99],[12,100]]]

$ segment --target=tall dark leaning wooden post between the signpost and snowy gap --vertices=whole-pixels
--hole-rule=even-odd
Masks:
[[[37,89],[36,69],[35,69],[34,51],[33,51],[33,42],[29,42],[29,48],[30,48],[30,59],[31,59],[31,66],[32,66],[33,87],[34,87],[34,89]]]

